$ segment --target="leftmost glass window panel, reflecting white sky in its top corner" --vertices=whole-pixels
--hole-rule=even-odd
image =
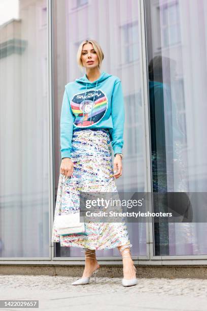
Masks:
[[[0,2],[0,257],[49,256],[46,0]]]

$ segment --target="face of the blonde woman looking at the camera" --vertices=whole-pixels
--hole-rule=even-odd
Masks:
[[[85,68],[95,68],[98,66],[98,56],[91,43],[83,45],[81,60]]]

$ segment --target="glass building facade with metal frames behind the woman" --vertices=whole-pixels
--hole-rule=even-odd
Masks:
[[[19,17],[0,19],[0,263],[84,260],[80,248],[52,243],[51,231],[62,97],[84,74],[76,54],[85,39],[99,42],[101,70],[122,81],[118,190],[206,192],[205,13],[205,0],[19,0]],[[191,223],[127,223],[134,262],[206,264],[205,203],[197,196]],[[116,249],[97,257],[121,263]]]

